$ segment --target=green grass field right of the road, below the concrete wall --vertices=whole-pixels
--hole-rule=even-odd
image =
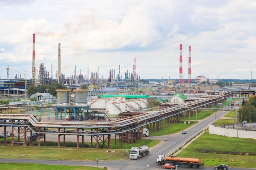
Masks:
[[[256,140],[206,131],[176,156],[200,158],[204,166],[227,164],[230,168],[256,168]]]

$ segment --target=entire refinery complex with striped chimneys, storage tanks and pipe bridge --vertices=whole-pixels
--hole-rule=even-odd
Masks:
[[[164,126],[179,123],[183,117],[200,114],[204,108],[217,106],[227,98],[240,98],[255,95],[255,89],[248,84],[220,87],[210,82],[206,76],[191,79],[191,46],[189,46],[188,79],[184,82],[182,68],[182,44],[180,44],[179,79],[162,79],[161,82],[141,81],[136,73],[136,59],[132,72],[128,70],[124,79],[119,72],[109,71],[108,79],[97,73],[89,75],[76,74],[65,76],[61,70],[61,44],[58,43],[58,70],[55,76],[44,66],[43,61],[36,68],[35,34],[33,34],[32,78],[26,78],[26,71],[19,72],[14,79],[9,79],[10,67],[7,66],[7,79],[0,79],[2,98],[18,99],[0,106],[0,128],[3,128],[4,141],[7,145],[7,128],[11,128],[11,146],[15,144],[33,145],[33,140],[43,140],[46,145],[48,135],[58,136],[58,147],[65,135],[75,135],[77,147],[84,146],[84,137],[90,137],[90,147],[111,148],[111,139],[115,143],[135,142],[143,137],[143,129],[150,132],[161,130]],[[24,78],[21,78],[24,76]],[[28,87],[49,85],[52,82],[61,84],[56,88],[56,96],[48,93],[35,93],[28,96]],[[88,89],[81,86],[86,85]],[[30,99],[33,98],[33,101]],[[159,102],[159,108],[149,111]],[[42,121],[42,116],[48,121]],[[52,121],[54,119],[55,121]],[[51,120],[51,121],[50,121]],[[14,133],[16,135],[14,135]],[[36,135],[36,137],[32,137]],[[41,139],[43,138],[43,139]],[[79,141],[82,140],[82,141]],[[94,145],[94,143],[96,143]]]

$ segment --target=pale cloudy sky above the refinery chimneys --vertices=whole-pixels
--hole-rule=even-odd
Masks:
[[[0,0],[0,77],[109,71],[140,79],[256,79],[256,0]],[[134,60],[136,59],[136,64]],[[21,74],[22,73],[22,74]],[[252,73],[252,74],[251,74]]]

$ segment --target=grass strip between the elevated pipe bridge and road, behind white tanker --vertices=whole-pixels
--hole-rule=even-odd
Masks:
[[[113,161],[120,159],[128,159],[126,149],[130,150],[131,147],[147,145],[152,147],[158,144],[158,140],[141,139],[134,144],[123,143],[123,149],[121,144],[115,145],[114,139],[112,139],[112,149],[95,149],[95,148],[75,148],[75,147],[56,147],[56,146],[3,146],[0,145],[0,152],[4,152],[0,157],[9,159],[41,159],[42,160],[67,160],[69,155],[70,161],[94,161],[94,158],[99,160]],[[113,148],[114,147],[114,148]],[[97,150],[97,152],[95,152]],[[19,156],[25,155],[25,156]],[[75,158],[75,159],[70,159]]]

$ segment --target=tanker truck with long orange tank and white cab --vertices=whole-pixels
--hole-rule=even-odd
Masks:
[[[204,163],[201,162],[201,159],[168,157],[166,155],[157,155],[157,163],[159,165],[163,165],[165,163],[172,163],[173,165],[186,166],[188,168],[199,168],[200,166],[204,166]]]

